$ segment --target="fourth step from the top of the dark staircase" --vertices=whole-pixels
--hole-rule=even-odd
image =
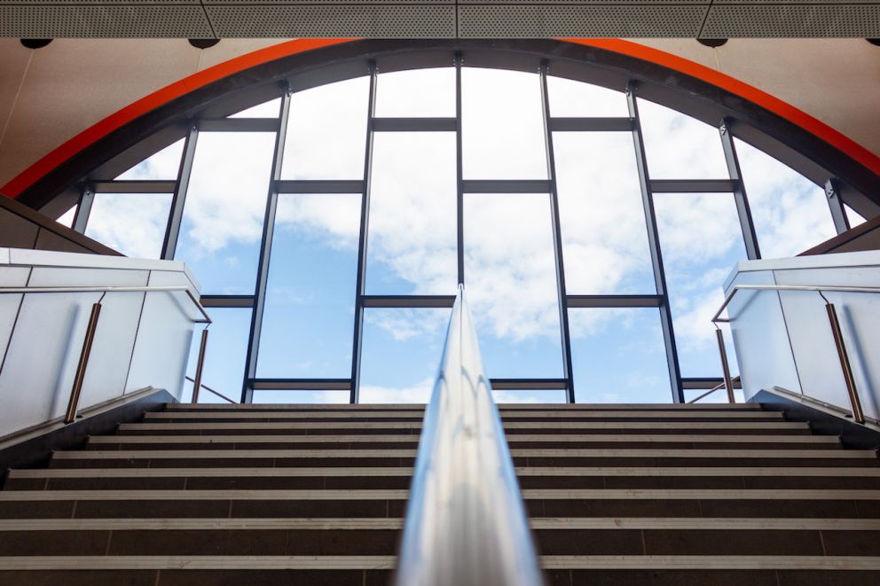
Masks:
[[[86,449],[397,449],[418,446],[418,434],[99,435]],[[701,434],[509,434],[511,448],[840,449],[835,436]]]

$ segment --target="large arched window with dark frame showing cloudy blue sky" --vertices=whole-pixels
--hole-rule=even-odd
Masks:
[[[75,228],[193,270],[226,395],[426,401],[463,282],[499,401],[687,400],[720,380],[735,263],[860,221],[712,92],[497,45],[342,65],[191,106],[77,184]]]

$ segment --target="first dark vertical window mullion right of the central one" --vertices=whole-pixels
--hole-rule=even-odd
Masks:
[[[562,230],[559,220],[559,198],[556,193],[556,161],[553,149],[553,131],[550,129],[550,100],[547,94],[546,61],[541,62],[541,105],[544,112],[544,138],[547,158],[547,177],[550,183],[550,213],[553,226],[554,261],[556,263],[556,292],[558,295],[559,325],[562,337],[562,376],[566,379],[566,400],[575,402],[574,377],[571,374],[571,341],[569,332],[568,297],[565,293],[565,267],[562,262]]]

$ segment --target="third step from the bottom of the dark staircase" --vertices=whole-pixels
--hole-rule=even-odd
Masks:
[[[5,490],[0,519],[399,517],[405,490]],[[523,489],[531,517],[880,519],[880,491]]]

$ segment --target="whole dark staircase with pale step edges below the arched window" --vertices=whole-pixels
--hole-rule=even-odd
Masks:
[[[880,467],[745,405],[503,405],[549,584],[880,583]],[[0,491],[0,583],[389,582],[420,405],[169,404]]]

